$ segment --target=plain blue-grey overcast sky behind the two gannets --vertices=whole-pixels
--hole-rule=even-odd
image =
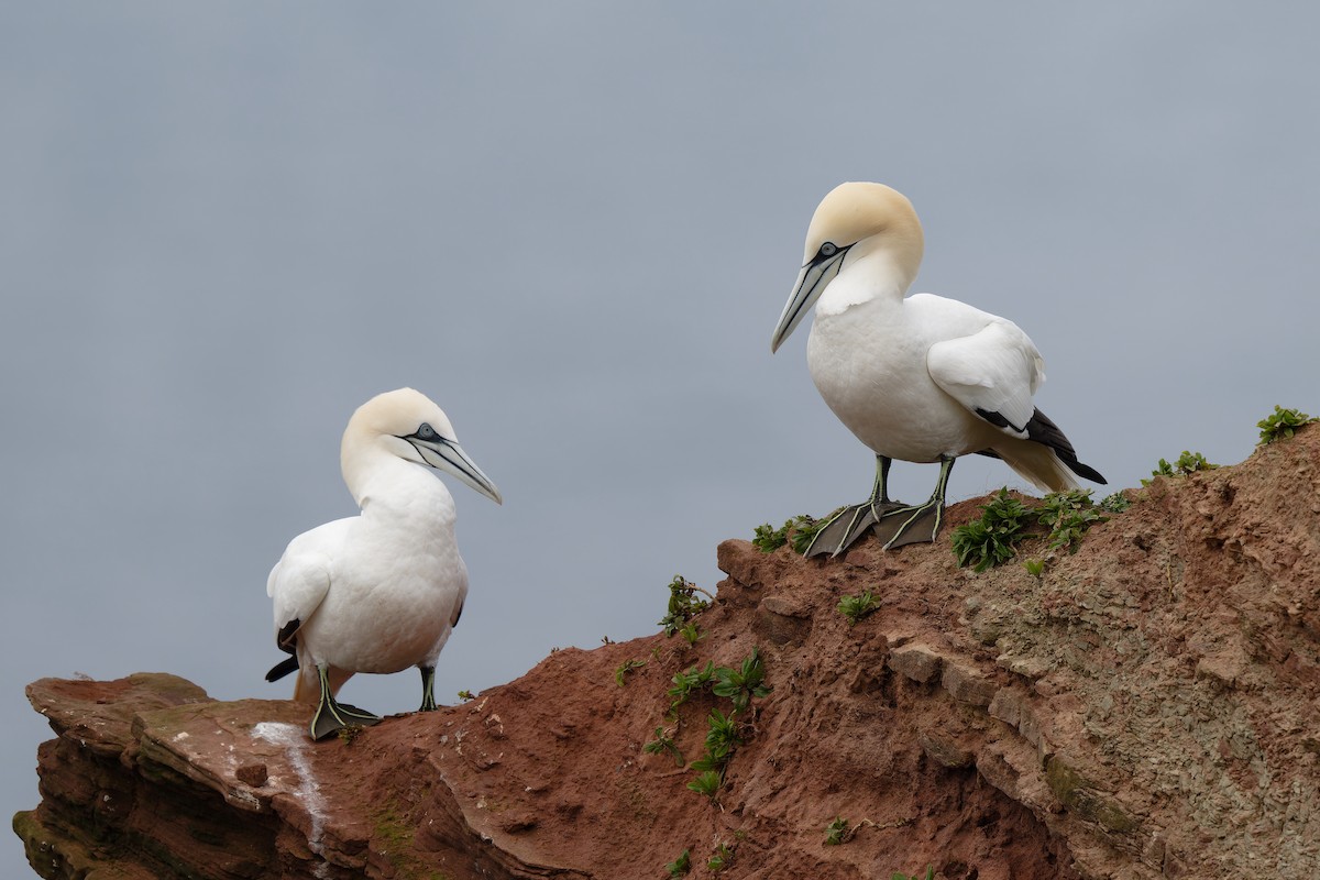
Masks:
[[[921,215],[915,290],[1018,322],[1113,488],[1320,412],[1313,4],[7,3],[5,814],[45,676],[267,685],[265,578],[354,512],[352,410],[412,385],[471,573],[437,695],[653,632],[715,545],[870,489],[770,354],[820,198]],[[936,468],[896,464],[924,499]],[[954,499],[1015,482],[954,468]],[[399,712],[416,673],[359,677]],[[0,873],[20,872],[4,838]]]

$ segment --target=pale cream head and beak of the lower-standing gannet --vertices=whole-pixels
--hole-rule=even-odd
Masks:
[[[407,462],[451,474],[496,504],[503,504],[491,479],[458,445],[445,412],[412,388],[376,394],[348,420],[339,464],[354,497],[358,468],[370,458],[368,450],[383,450]]]

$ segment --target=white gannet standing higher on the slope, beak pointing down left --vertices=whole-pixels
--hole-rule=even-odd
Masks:
[[[1105,483],[1032,404],[1045,364],[1018,325],[929,293],[904,298],[923,248],[912,203],[883,183],[834,187],[807,230],[803,269],[770,350],[816,306],[812,380],[876,459],[871,497],[836,515],[808,555],[842,553],[869,526],[886,549],[933,541],[949,471],[969,453],[1003,459],[1044,491],[1076,487],[1073,474]],[[940,463],[928,501],[890,500],[892,459]]]

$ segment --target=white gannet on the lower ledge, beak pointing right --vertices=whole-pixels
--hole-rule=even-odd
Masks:
[[[380,720],[335,701],[354,673],[417,666],[420,711],[436,708],[436,660],[463,611],[467,567],[454,541],[454,499],[426,468],[502,503],[445,413],[412,388],[358,408],[339,467],[362,513],[293,538],[265,587],[275,600],[275,641],[294,654],[267,681],[298,670],[293,698],[315,705],[313,739]]]

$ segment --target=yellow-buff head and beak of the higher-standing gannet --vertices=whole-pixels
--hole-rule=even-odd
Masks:
[[[882,255],[884,270],[902,293],[921,265],[921,222],[907,197],[883,183],[840,183],[826,195],[807,227],[803,270],[779,315],[770,351],[793,332],[821,293],[847,263]]]

